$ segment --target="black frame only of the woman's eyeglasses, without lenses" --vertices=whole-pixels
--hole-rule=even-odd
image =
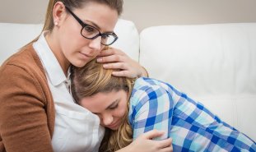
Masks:
[[[78,16],[76,16],[67,6],[65,6],[65,7],[66,7],[67,11],[70,12],[70,14],[71,14],[71,15],[78,21],[78,23],[81,25],[81,33],[82,33],[82,30],[83,30],[86,26],[89,26],[89,27],[91,27],[91,28],[93,28],[93,29],[95,29],[95,30],[98,30],[98,29],[95,28],[94,26],[92,26],[92,25],[87,25],[85,22],[81,21],[81,19],[80,19]],[[84,35],[82,35],[82,34],[81,34],[81,36],[84,37],[84,38],[86,38],[86,39],[96,39],[96,38],[99,37],[99,36],[101,36],[101,39],[102,39],[102,36],[107,36],[107,37],[108,37],[108,35],[114,36],[113,42],[111,42],[110,44],[103,44],[103,45],[105,45],[105,46],[109,46],[109,45],[111,45],[111,44],[114,44],[114,42],[115,42],[117,39],[119,39],[119,37],[118,37],[117,35],[115,35],[114,32],[101,33],[100,30],[98,30],[98,32],[99,32],[99,34],[93,36],[92,38],[88,38],[88,37],[86,37],[86,36],[84,36]],[[100,41],[100,44],[102,44],[101,41]]]

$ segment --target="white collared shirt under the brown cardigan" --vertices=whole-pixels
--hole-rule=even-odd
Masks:
[[[44,32],[45,33],[45,32]],[[100,119],[86,108],[74,103],[67,89],[69,74],[66,77],[54,53],[47,44],[44,33],[33,44],[47,76],[49,88],[55,103],[55,125],[52,144],[58,152],[98,151],[105,128]]]

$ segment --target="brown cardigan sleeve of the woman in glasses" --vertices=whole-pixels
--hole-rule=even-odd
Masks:
[[[33,73],[15,65],[2,67],[0,151],[53,151],[45,103],[40,83]]]

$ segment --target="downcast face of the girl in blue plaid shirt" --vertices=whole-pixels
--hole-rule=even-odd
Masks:
[[[128,93],[124,90],[98,93],[81,99],[82,107],[100,117],[100,125],[111,130],[120,127],[127,111]]]

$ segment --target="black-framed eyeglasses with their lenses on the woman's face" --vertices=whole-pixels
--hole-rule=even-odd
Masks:
[[[66,6],[65,6],[66,7]],[[81,25],[81,35],[86,39],[96,39],[97,37],[101,36],[100,43],[108,46],[111,44],[114,44],[114,42],[119,39],[117,35],[114,34],[114,32],[106,32],[106,33],[100,33],[100,30],[95,28],[92,25],[87,25],[83,21],[81,21],[80,18],[78,18],[68,7],[66,7],[67,11],[71,13],[71,15],[78,21],[78,23]]]

